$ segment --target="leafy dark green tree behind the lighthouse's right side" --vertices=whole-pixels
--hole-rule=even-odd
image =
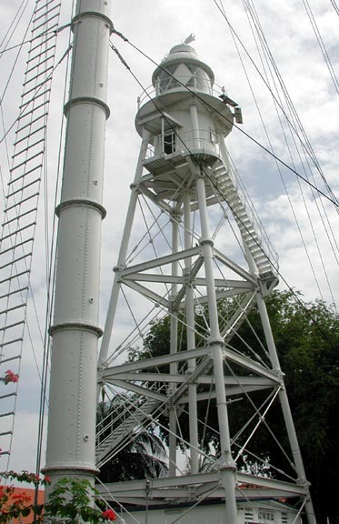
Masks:
[[[339,408],[339,319],[333,307],[323,301],[305,303],[300,293],[293,291],[274,291],[267,297],[266,305],[274,332],[274,340],[284,371],[284,383],[294,416],[294,424],[304,457],[306,475],[312,484],[311,491],[314,508],[319,516],[338,516],[336,503],[337,477],[339,473],[339,428],[337,413]],[[234,303],[224,300],[220,304],[220,317],[232,314]],[[201,312],[202,313],[202,312]],[[202,325],[199,313],[196,326]],[[206,312],[204,311],[204,315]],[[184,337],[181,334],[181,339]],[[197,345],[200,343],[197,337]],[[263,361],[267,355],[261,341],[264,340],[259,313],[254,308],[248,321],[238,329],[232,338],[232,348],[244,355],[254,354]],[[251,348],[251,351],[250,351]],[[184,347],[183,347],[184,349]],[[169,352],[169,319],[163,318],[155,323],[145,338],[144,348],[131,351],[132,360],[150,358]],[[165,371],[166,369],[162,369]],[[241,373],[236,367],[225,368],[225,373]],[[204,387],[199,386],[200,391]],[[237,400],[237,398],[234,398]],[[264,401],[262,391],[251,396],[251,402],[260,406]],[[213,407],[214,402],[210,402]],[[234,402],[229,409],[231,434],[241,428],[249,418],[253,406],[244,401]],[[207,401],[199,403],[199,418],[207,413]],[[218,451],[218,438],[215,432],[216,418],[213,409],[207,417],[207,426],[200,427],[202,448],[207,450],[212,443]],[[179,418],[183,437],[188,439],[188,424],[185,413]],[[287,446],[284,437],[284,421],[278,405],[271,408],[267,424],[275,435]],[[161,420],[165,425],[165,417]],[[204,433],[204,439],[203,439]],[[162,433],[166,438],[165,432]],[[241,443],[241,438],[239,439]],[[262,425],[251,441],[252,452],[279,469],[286,469],[288,461],[280,448],[276,447],[270,432]],[[258,467],[255,460],[246,456],[238,467],[248,469],[249,465]],[[277,469],[270,472],[279,477]],[[291,471],[292,473],[293,470]],[[321,521],[321,519],[320,519]]]

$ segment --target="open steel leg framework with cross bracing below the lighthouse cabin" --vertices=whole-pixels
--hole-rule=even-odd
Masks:
[[[269,325],[265,328],[269,341],[260,341],[259,350],[258,340],[252,348],[239,329],[248,323],[253,307],[260,303],[264,308],[264,297],[277,283],[277,257],[249,198],[244,196],[225,147],[223,155],[202,157],[188,153],[183,146],[172,154],[157,156],[153,152],[150,156],[150,140],[146,130],[115,267],[99,368],[99,385],[105,398],[121,396],[125,408],[114,422],[109,418],[107,425],[100,425],[97,465],[102,467],[114,459],[131,435],[160,431],[167,435],[169,478],[156,480],[158,488],[150,504],[190,499],[192,475],[199,478],[197,498],[209,489],[208,498],[223,498],[229,483],[224,474],[234,475],[237,465],[230,448],[210,459],[206,449],[212,452],[214,444],[201,440],[206,418],[199,406],[215,409],[215,417],[223,426],[224,416],[229,413],[232,417],[233,405],[247,403],[251,411],[248,419],[236,430],[232,428],[233,434],[227,433],[228,426],[216,429],[215,438],[221,438],[221,446],[229,443],[239,464],[244,456],[251,457],[251,441],[259,428],[268,427],[270,409],[284,397],[284,376],[270,346]],[[121,317],[120,308],[124,311]],[[132,328],[122,335],[128,325],[127,315]],[[265,321],[264,311],[263,318]],[[156,338],[148,347],[152,327],[158,323],[168,328],[165,344],[159,342],[165,345],[163,354],[156,348]],[[135,358],[135,350],[142,359]],[[260,400],[255,397],[258,394]],[[221,414],[220,406],[226,415]],[[288,418],[290,422],[292,418]],[[224,440],[220,436],[223,431]],[[271,437],[279,447],[278,438]],[[178,448],[185,449],[184,465],[180,464]],[[282,453],[287,457],[289,451],[282,448]],[[219,471],[212,484],[206,477],[209,473],[199,472],[206,458],[210,459],[209,469]],[[303,498],[307,488],[303,475],[296,473],[300,462],[291,470],[294,459],[287,459],[287,472],[270,487],[263,488],[260,478],[247,477],[239,469],[235,498],[241,498],[236,488],[239,479],[255,484],[267,498],[273,494]],[[175,475],[181,475],[180,489]],[[168,481],[173,483],[171,488]],[[131,490],[127,486],[119,490],[115,485],[110,489],[121,503],[145,504],[143,483],[135,481]],[[247,495],[251,499],[250,492],[246,491]]]

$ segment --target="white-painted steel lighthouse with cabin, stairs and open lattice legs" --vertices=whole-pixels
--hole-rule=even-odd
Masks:
[[[130,438],[133,430],[138,431],[150,423],[159,425],[159,417],[166,416],[169,418],[172,479],[155,479],[147,504],[161,505],[168,499],[174,504],[189,502],[211,489],[211,497],[225,501],[222,521],[235,524],[238,518],[236,500],[240,497],[237,488],[239,481],[255,485],[258,491],[254,489],[253,493],[260,490],[262,494],[266,489],[267,495],[269,493],[270,497],[275,498],[284,494],[287,497],[294,494],[305,497],[308,494],[302,469],[296,482],[272,481],[268,484],[265,481],[263,484],[258,477],[246,477],[236,471],[232,456],[234,442],[230,435],[228,404],[232,405],[233,396],[242,394],[245,397],[248,393],[263,389],[267,390],[267,398],[271,394],[274,398],[284,384],[282,374],[276,372],[276,352],[273,349],[267,352],[264,348],[264,358],[267,359],[264,361],[258,355],[250,358],[230,346],[234,332],[254,306],[255,298],[261,297],[261,292],[269,294],[276,285],[276,257],[250,199],[230,165],[223,137],[232,130],[234,113],[215,96],[213,82],[213,72],[195,55],[194,49],[188,45],[177,45],[155,69],[155,98],[150,100],[145,97],[144,104],[138,107],[135,126],[143,136],[143,144],[116,267],[105,328],[108,333],[105,333],[100,359],[100,384],[115,388],[117,394],[119,389],[124,388],[138,397],[135,408],[128,408],[105,444],[99,444],[97,457],[99,464],[105,464],[121,443]],[[149,240],[150,250],[146,252],[145,246],[137,243],[140,257],[135,256],[134,261],[128,263],[125,257],[132,230],[133,227],[140,227],[135,223],[138,196],[140,207],[144,200],[147,203],[145,208],[151,205],[156,207],[159,217],[155,219],[152,211],[152,218],[158,229],[152,236],[149,224],[145,225],[143,238]],[[242,239],[244,241],[244,250],[241,250],[243,263],[232,255],[227,256],[222,248],[214,247],[210,224],[214,209],[220,203],[223,205],[223,218],[226,210],[230,210],[235,228],[238,228],[237,239],[240,243]],[[166,230],[161,226],[162,217],[166,217],[169,224],[172,221],[171,227]],[[184,246],[182,250],[179,247],[179,232]],[[158,233],[163,235],[161,249],[150,253]],[[155,321],[165,315],[170,318],[168,354],[125,364],[115,362],[114,356],[107,357],[118,293],[123,286],[134,290],[139,297],[149,300],[155,309],[160,310],[160,315],[155,315]],[[224,297],[231,298],[230,303],[233,299],[235,307],[227,312],[221,327],[217,301]],[[199,338],[204,338],[204,347],[196,348],[195,312],[205,305],[208,309],[204,317],[207,327],[204,335],[199,332]],[[267,335],[264,317],[263,325]],[[179,326],[185,332],[185,350],[178,350]],[[140,329],[139,325],[137,329]],[[142,334],[141,348],[145,348],[145,335],[149,333],[145,330]],[[269,339],[267,335],[268,346]],[[126,351],[130,348],[128,344]],[[115,355],[120,356],[120,353],[121,348],[115,351]],[[109,367],[111,363],[115,365]],[[155,373],[158,367],[162,370]],[[232,367],[241,368],[242,372],[228,376],[225,375],[227,367],[230,370]],[[199,385],[208,384],[210,391],[207,388],[197,390]],[[204,453],[199,448],[197,420],[198,403],[210,398],[216,399],[221,449],[221,458],[214,462],[214,468],[218,471],[211,481],[208,474],[198,472],[199,460]],[[284,399],[283,410],[286,410]],[[177,475],[175,448],[182,438],[176,415],[185,406],[189,417],[189,442],[185,444],[190,450],[191,474],[182,477]],[[255,413],[255,417],[259,426],[260,411]],[[288,426],[288,417],[285,416],[285,419]],[[291,428],[289,433],[293,437]],[[178,489],[179,486],[182,489]],[[112,488],[120,501],[145,505],[145,482],[126,483],[124,487],[114,485]],[[249,493],[249,497],[252,496]]]

